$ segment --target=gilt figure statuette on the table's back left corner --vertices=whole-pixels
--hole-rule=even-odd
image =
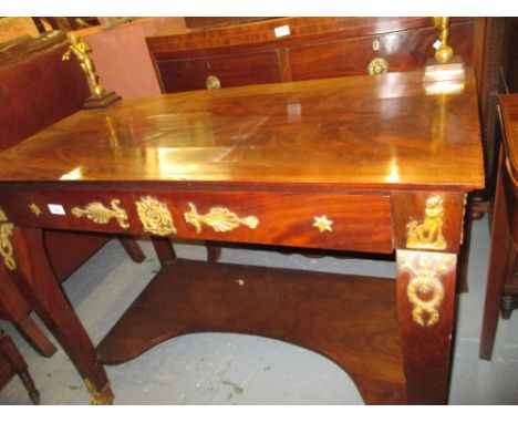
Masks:
[[[69,32],[66,38],[70,47],[61,59],[64,62],[69,62],[72,54],[74,54],[90,83],[92,95],[84,102],[84,109],[105,107],[120,100],[121,97],[113,91],[107,93],[99,83],[99,75],[95,72],[95,65],[90,55],[92,53],[90,44],[74,32]]]

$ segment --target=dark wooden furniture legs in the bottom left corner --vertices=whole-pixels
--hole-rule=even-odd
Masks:
[[[34,381],[29,374],[29,370],[20,354],[11,337],[7,336],[0,329],[0,390],[18,374],[27,391],[32,403],[38,405],[40,403],[40,392],[34,386]]]

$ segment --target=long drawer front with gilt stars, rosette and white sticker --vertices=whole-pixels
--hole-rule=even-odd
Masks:
[[[0,207],[21,226],[392,251],[387,195],[17,190],[0,193]]]

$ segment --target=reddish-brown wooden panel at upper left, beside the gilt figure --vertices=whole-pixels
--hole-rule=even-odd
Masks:
[[[32,43],[12,47],[11,60],[0,61],[0,149],[79,111],[89,96],[87,81],[79,66],[63,63],[66,35],[45,34],[39,49]],[[9,58],[9,56],[8,56]],[[38,72],[38,78],[34,78]],[[44,86],[44,89],[42,89]]]

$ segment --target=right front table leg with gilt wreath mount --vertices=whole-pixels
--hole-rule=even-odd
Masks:
[[[397,309],[410,404],[445,404],[457,256],[397,250]]]

